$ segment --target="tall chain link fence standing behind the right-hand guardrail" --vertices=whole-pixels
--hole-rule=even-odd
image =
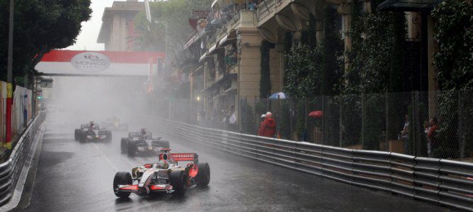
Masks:
[[[275,137],[281,139],[473,161],[473,90],[280,100],[246,97],[223,108],[215,102],[182,99],[153,104],[151,113],[158,117],[212,129],[257,135],[261,115],[269,111],[276,123]],[[311,112],[316,115],[309,116]],[[234,124],[229,122],[232,114]]]

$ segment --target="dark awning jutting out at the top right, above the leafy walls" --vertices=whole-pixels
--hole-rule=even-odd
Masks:
[[[386,0],[377,6],[377,11],[431,11],[443,0]]]

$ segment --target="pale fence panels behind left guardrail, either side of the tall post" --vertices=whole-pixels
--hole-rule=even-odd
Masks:
[[[27,88],[16,86],[13,92],[13,105],[11,107],[11,137],[16,137],[25,130],[25,126],[31,122],[33,114],[32,92]],[[6,83],[0,82],[0,143],[6,139]],[[12,146],[14,143],[12,143]]]

